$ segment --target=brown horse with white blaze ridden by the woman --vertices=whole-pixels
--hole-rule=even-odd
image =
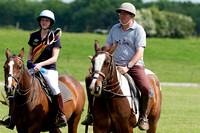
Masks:
[[[51,128],[54,107],[47,99],[37,78],[30,75],[23,63],[24,48],[19,55],[11,55],[6,50],[4,65],[5,90],[14,96],[10,107],[12,122],[19,133],[39,133],[49,131],[59,133],[59,128]],[[73,98],[64,103],[64,113],[68,120],[68,132],[76,133],[85,104],[85,92],[81,84],[71,76],[61,75],[59,81],[66,85]]]

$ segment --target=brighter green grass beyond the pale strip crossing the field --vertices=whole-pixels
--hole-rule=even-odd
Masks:
[[[0,66],[3,67],[9,48],[12,54],[19,54],[25,48],[26,65],[29,50],[28,39],[31,31],[0,29]],[[62,49],[57,61],[59,74],[70,74],[84,81],[91,63],[88,55],[94,55],[94,41],[100,46],[105,43],[106,35],[89,33],[63,33]],[[152,70],[161,82],[200,83],[200,38],[169,39],[147,38],[144,52],[145,67]],[[4,81],[0,69],[0,81]]]

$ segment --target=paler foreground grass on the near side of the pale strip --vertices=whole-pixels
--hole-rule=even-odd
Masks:
[[[3,87],[0,88],[2,90]],[[166,87],[162,86],[162,111],[158,122],[157,133],[199,133],[200,130],[200,87]],[[2,100],[2,97],[0,96]],[[81,121],[86,116],[87,101],[85,111],[82,114]],[[8,107],[0,104],[0,118],[8,112]],[[83,133],[85,127],[80,124],[78,133]],[[16,133],[0,126],[0,133]],[[67,127],[62,128],[63,133],[67,133]],[[134,129],[136,133],[144,133],[138,128]],[[89,127],[89,133],[92,133],[92,127]]]

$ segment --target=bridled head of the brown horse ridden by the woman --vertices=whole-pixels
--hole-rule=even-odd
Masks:
[[[7,96],[13,96],[23,75],[24,63],[22,58],[24,48],[22,48],[19,55],[11,55],[8,48],[5,54],[7,58],[4,64],[5,91]]]

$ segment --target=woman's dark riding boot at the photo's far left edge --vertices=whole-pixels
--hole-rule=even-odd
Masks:
[[[13,98],[10,97],[9,98],[9,114],[8,114],[9,117],[5,121],[0,120],[0,125],[5,126],[6,128],[11,129],[11,130],[13,130],[15,127],[14,123],[11,121],[11,116],[10,116],[11,114],[10,109],[11,109],[12,102],[13,102]]]

